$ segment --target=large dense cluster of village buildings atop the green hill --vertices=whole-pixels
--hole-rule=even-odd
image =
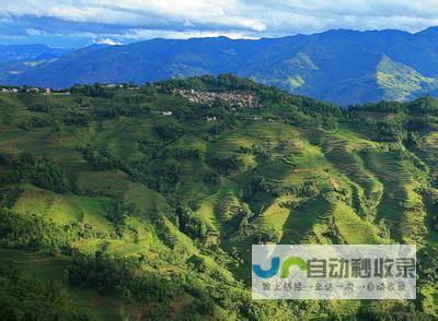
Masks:
[[[215,102],[222,100],[238,108],[261,107],[258,97],[250,92],[200,92],[195,90],[175,90],[173,93],[187,98],[194,104],[212,106]]]

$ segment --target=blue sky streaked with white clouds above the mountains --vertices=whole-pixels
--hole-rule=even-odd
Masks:
[[[414,33],[437,25],[438,0],[1,0],[0,5],[0,44],[65,48],[331,28]]]

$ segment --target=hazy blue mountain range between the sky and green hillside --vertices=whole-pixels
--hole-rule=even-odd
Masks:
[[[0,47],[1,84],[141,84],[231,72],[341,105],[438,95],[438,27],[416,34],[336,29],[257,40],[151,39],[73,51],[38,46],[11,51]]]

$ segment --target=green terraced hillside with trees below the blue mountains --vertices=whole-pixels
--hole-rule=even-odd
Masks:
[[[0,318],[438,318],[438,100],[345,110],[230,74],[70,92],[0,94]],[[253,243],[393,242],[417,245],[414,301],[251,300]]]

